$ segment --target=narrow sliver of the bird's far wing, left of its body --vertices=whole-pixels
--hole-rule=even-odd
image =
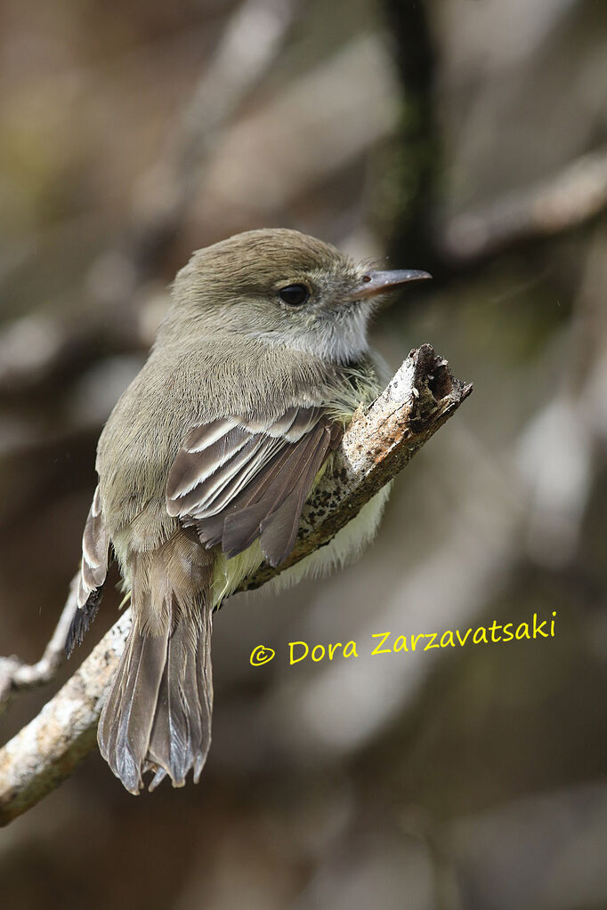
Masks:
[[[99,488],[95,490],[82,535],[82,566],[78,579],[77,610],[67,634],[69,657],[96,617],[101,601],[101,588],[106,581],[109,535],[101,514]]]

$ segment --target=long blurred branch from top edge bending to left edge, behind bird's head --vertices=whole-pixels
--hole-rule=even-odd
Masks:
[[[123,244],[91,263],[81,318],[27,316],[0,336],[0,391],[44,383],[88,349],[141,347],[137,290],[157,271],[224,132],[268,73],[304,0],[245,0],[136,187]],[[130,222],[130,224],[129,224]],[[83,318],[84,317],[84,318]]]

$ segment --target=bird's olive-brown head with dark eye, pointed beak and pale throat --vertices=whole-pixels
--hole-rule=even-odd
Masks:
[[[162,334],[237,334],[347,362],[367,350],[379,296],[423,278],[368,270],[295,230],[246,231],[197,250],[177,273]]]

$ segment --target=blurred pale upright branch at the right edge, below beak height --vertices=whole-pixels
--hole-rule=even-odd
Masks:
[[[607,232],[592,237],[552,397],[521,434],[515,463],[528,491],[521,542],[547,569],[580,551],[592,477],[607,451]]]

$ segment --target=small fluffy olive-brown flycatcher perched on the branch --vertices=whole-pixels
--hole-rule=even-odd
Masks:
[[[133,625],[98,727],[137,794],[197,781],[211,739],[215,608],[292,550],[309,492],[360,403],[381,390],[367,328],[378,295],[421,271],[366,271],[298,231],[252,230],[177,273],[147,363],[99,439],[71,653],[94,619],[110,549]],[[368,542],[386,488],[278,576],[343,563]]]

